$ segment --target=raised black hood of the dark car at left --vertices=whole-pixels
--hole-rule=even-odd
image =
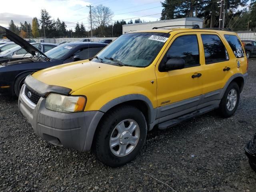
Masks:
[[[21,46],[22,48],[24,48],[30,54],[35,56],[36,52],[39,52],[41,55],[43,55],[46,58],[48,58],[43,52],[41,52],[40,50],[35,48],[32,44],[26,42],[26,40],[24,40],[20,36],[16,35],[14,32],[11,32],[10,30],[8,30],[8,29],[6,29],[6,28],[4,28],[2,26],[0,26],[0,34],[2,36],[5,36],[9,40],[13,41],[17,45]]]

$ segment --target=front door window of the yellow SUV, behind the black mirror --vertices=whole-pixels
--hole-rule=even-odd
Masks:
[[[199,49],[196,35],[177,37],[167,52],[167,60],[182,58],[186,61],[185,68],[199,66]]]

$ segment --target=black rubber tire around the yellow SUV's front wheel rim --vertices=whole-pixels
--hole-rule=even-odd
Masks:
[[[138,124],[140,135],[133,150],[126,156],[116,156],[110,148],[110,136],[114,133],[116,126],[123,120],[134,120]],[[143,113],[133,106],[121,106],[107,112],[98,125],[95,133],[93,149],[98,159],[110,167],[119,167],[132,161],[140,152],[147,135],[147,124]],[[132,133],[133,134],[133,133]],[[119,139],[118,139],[119,141]],[[129,144],[128,144],[129,145]],[[118,148],[121,147],[118,145]]]

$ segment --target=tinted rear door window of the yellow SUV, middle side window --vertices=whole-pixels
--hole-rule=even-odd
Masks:
[[[204,44],[205,64],[229,60],[226,48],[217,35],[201,35]]]

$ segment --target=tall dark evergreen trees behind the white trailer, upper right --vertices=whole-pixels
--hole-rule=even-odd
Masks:
[[[256,26],[256,0],[225,0],[224,27],[232,30],[242,30]],[[204,19],[204,27],[218,28],[220,18],[220,3],[216,0],[165,0],[162,3],[161,20],[198,17]],[[239,9],[242,7],[242,9]],[[249,27],[250,28],[250,27]]]

